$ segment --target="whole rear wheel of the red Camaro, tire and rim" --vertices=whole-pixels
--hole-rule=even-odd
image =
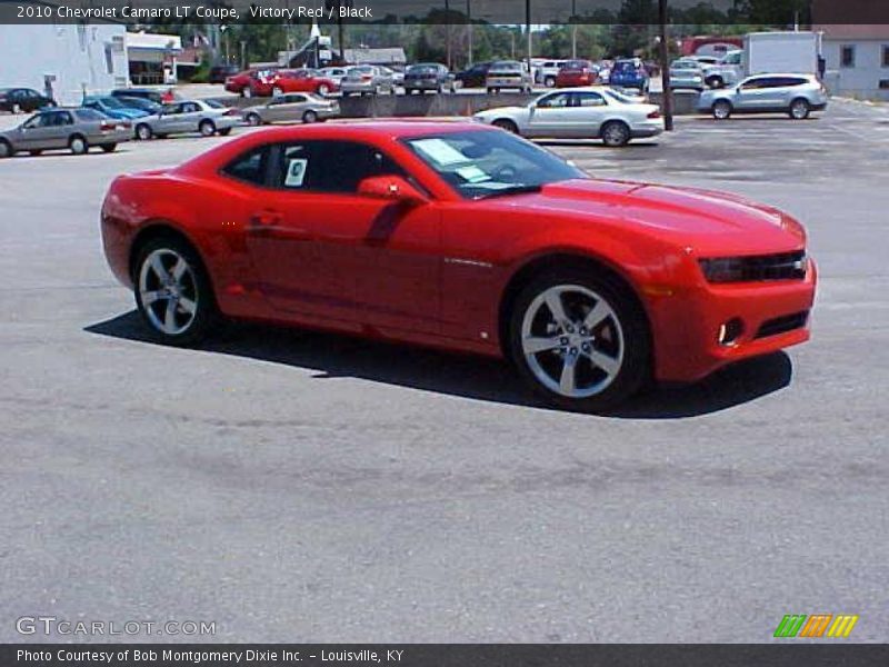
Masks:
[[[168,345],[193,345],[216,319],[210,281],[194,250],[177,238],[149,241],[136,263],[136,305],[151,332]]]

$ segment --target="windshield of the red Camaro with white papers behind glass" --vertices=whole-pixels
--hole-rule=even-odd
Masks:
[[[461,197],[485,199],[587,178],[552,153],[501,130],[449,132],[404,143]]]

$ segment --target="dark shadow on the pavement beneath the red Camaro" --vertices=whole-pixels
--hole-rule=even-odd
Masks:
[[[84,331],[158,344],[134,310]],[[259,359],[317,370],[318,379],[351,377],[540,409],[552,409],[527,392],[509,365],[498,359],[379,342],[344,335],[232,323],[197,348],[203,352]],[[696,385],[651,389],[608,416],[677,419],[717,412],[787,387],[790,358],[777,352],[719,370]]]

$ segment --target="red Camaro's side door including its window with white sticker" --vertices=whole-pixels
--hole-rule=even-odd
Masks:
[[[437,331],[437,209],[358,193],[364,178],[403,170],[354,141],[284,143],[273,165],[266,206],[277,233],[251,243],[269,301],[330,320]]]

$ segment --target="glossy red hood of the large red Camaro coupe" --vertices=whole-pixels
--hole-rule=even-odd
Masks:
[[[578,179],[502,201],[546,209],[541,217],[631,225],[701,253],[782,252],[806,242],[802,226],[782,211],[712,190]]]

